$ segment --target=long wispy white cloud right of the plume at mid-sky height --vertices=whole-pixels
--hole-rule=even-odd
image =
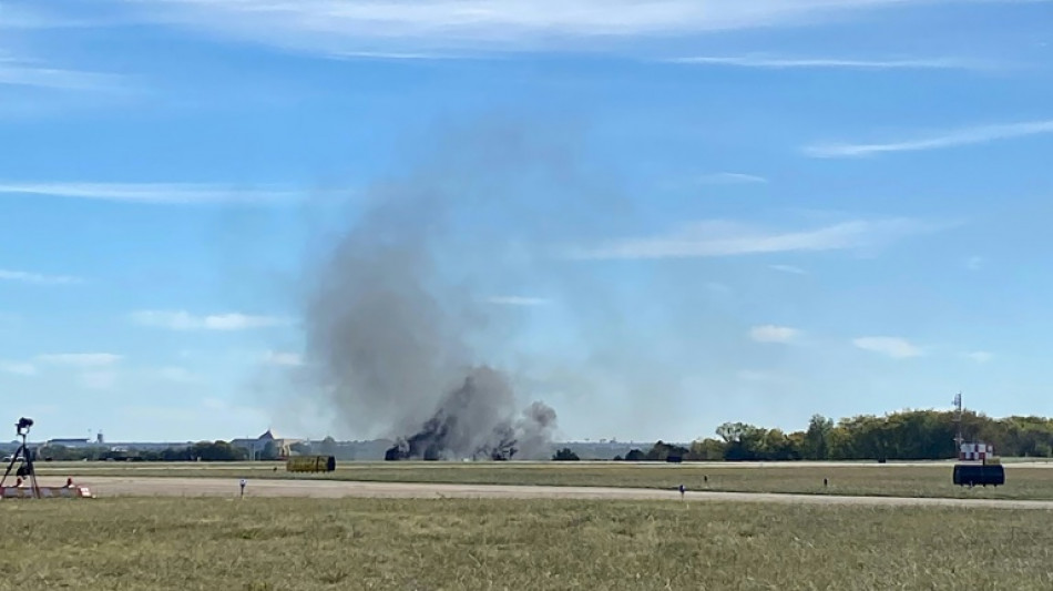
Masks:
[[[856,220],[815,230],[775,231],[726,221],[698,222],[671,234],[615,241],[568,253],[579,259],[719,257],[873,247],[939,230],[916,220]]]

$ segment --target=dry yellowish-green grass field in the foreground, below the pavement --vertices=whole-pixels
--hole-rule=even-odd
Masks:
[[[1053,588],[1053,514],[683,501],[0,501],[0,589]]]

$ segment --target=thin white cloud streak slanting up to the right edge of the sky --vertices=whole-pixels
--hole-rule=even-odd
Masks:
[[[926,137],[887,143],[827,143],[804,149],[804,153],[814,157],[858,157],[890,152],[917,152],[939,150],[961,145],[983,144],[998,140],[1010,140],[1029,135],[1053,133],[1053,119],[978,125],[936,133]]]

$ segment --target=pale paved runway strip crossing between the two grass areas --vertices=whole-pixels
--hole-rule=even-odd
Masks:
[[[238,481],[226,478],[85,477],[79,485],[91,487],[98,498],[108,497],[236,497]],[[43,483],[43,482],[42,482]],[[503,485],[437,485],[406,482],[352,482],[340,480],[249,480],[247,497],[381,497],[381,498],[493,498],[493,499],[606,499],[676,500],[676,490],[540,487]],[[923,499],[906,497],[847,497],[834,495],[781,495],[754,492],[687,491],[692,501],[784,502],[809,505],[869,505],[920,507],[974,507],[1053,510],[1053,501],[1002,499]]]

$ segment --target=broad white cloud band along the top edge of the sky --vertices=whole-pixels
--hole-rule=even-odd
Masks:
[[[642,37],[812,24],[924,0],[133,1],[142,19],[339,53],[553,50]],[[931,0],[929,0],[931,1]]]

